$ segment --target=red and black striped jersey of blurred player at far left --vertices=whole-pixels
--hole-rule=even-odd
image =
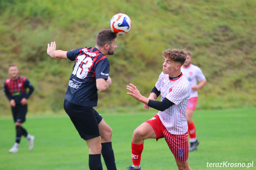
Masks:
[[[28,93],[27,88],[29,88]],[[17,80],[10,77],[4,82],[4,92],[9,101],[14,99],[15,103],[19,105],[23,98],[28,99],[30,97],[34,92],[34,87],[25,77],[19,76]]]

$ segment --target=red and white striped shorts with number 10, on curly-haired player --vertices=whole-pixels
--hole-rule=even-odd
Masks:
[[[158,115],[155,115],[150,120],[145,121],[149,123],[155,131],[156,140],[165,138],[174,158],[179,161],[186,161],[188,159],[188,135],[187,132],[183,135],[173,135],[169,133],[162,124]]]

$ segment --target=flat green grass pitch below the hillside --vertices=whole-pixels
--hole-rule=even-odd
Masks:
[[[97,109],[97,108],[96,108]],[[133,130],[150,119],[156,110],[141,113],[104,114],[103,118],[113,129],[112,144],[117,169],[132,165],[131,137]],[[193,118],[197,127],[200,145],[189,153],[190,167],[195,169],[247,169],[235,167],[207,167],[206,163],[252,163],[256,169],[256,109],[199,110]],[[15,137],[11,117],[0,117],[0,169],[1,170],[71,170],[88,168],[88,148],[68,116],[30,116],[24,127],[35,135],[35,147],[28,150],[23,137],[19,152],[8,153]],[[227,163],[227,165],[228,165]],[[106,169],[102,158],[103,169]],[[144,142],[141,160],[142,169],[177,169],[174,157],[164,139]]]

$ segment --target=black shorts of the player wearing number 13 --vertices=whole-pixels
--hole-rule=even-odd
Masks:
[[[100,136],[98,124],[102,117],[92,107],[79,106],[64,100],[64,109],[69,115],[82,139]]]

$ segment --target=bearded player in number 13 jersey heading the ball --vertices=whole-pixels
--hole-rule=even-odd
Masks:
[[[111,85],[109,60],[113,55],[117,35],[102,29],[96,37],[95,47],[71,51],[56,50],[56,43],[48,44],[47,54],[55,59],[75,61],[69,78],[64,109],[89,148],[90,170],[101,170],[101,154],[108,170],[116,170],[112,149],[112,129],[93,107],[97,106],[97,91],[104,92]],[[100,137],[99,137],[100,136]]]

